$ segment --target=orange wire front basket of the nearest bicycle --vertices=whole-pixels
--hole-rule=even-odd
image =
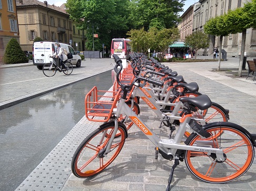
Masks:
[[[89,121],[107,122],[110,120],[116,102],[120,98],[118,92],[97,90],[93,87],[85,96],[85,116]]]

